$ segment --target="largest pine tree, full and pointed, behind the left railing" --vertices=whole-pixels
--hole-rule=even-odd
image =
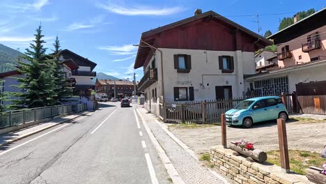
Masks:
[[[19,99],[13,100],[15,107],[44,107],[55,105],[56,93],[54,92],[54,63],[45,54],[45,41],[42,40],[42,27],[36,29],[35,40],[30,43],[30,49],[26,49],[24,59],[28,62],[19,62],[17,70],[24,75],[17,78],[22,89],[20,93],[13,93]]]

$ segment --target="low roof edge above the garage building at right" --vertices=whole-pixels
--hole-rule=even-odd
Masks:
[[[251,75],[249,77],[244,77],[246,80],[255,80],[255,79],[261,79],[262,77],[271,77],[274,75],[284,75],[284,74],[288,74],[288,72],[293,72],[296,70],[304,70],[306,68],[313,68],[313,67],[319,67],[319,66],[326,66],[326,59],[321,59],[319,61],[311,61],[311,62],[307,62],[307,63],[302,63],[300,65],[295,65],[295,66],[289,66],[286,68],[280,68],[277,70],[270,70],[268,72],[262,72],[262,73],[258,73],[256,75]]]

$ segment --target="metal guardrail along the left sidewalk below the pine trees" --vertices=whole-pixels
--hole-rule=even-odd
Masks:
[[[79,105],[78,112],[84,111],[86,105]],[[87,109],[87,106],[86,106]],[[79,111],[80,110],[80,111]],[[37,121],[43,118],[65,115],[72,112],[72,105],[56,105],[51,107],[39,107],[22,109],[0,113],[0,128],[8,128],[21,123]]]

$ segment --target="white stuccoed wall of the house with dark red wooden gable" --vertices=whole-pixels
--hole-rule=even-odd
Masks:
[[[174,101],[173,87],[194,87],[195,100],[215,99],[215,86],[232,86],[233,97],[241,97],[244,91],[243,75],[255,74],[254,52],[222,52],[194,49],[165,49],[163,52],[164,68],[164,95],[166,101]],[[189,73],[180,73],[174,69],[174,54],[187,54],[192,56],[192,70]],[[219,70],[219,56],[234,57],[235,70],[231,74],[224,74]],[[153,58],[152,58],[153,59]],[[156,66],[158,81],[152,84],[145,92],[157,88],[157,97],[160,97],[162,87],[161,57],[156,51]],[[150,66],[150,63],[146,68]],[[180,83],[181,82],[181,83]],[[187,84],[182,84],[185,82]],[[228,83],[228,84],[226,84]],[[205,89],[201,86],[203,84]],[[207,86],[209,84],[209,86]],[[189,95],[189,92],[188,92]],[[148,98],[150,98],[148,96]]]

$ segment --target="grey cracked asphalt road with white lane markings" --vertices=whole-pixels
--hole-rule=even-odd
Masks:
[[[1,147],[0,183],[169,183],[134,108],[103,103],[75,122]]]

